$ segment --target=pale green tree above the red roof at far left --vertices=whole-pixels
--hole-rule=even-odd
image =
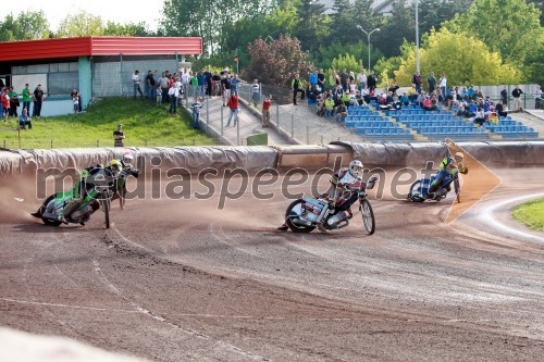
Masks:
[[[17,17],[8,14],[0,23],[0,41],[45,39],[49,33],[49,23],[41,10],[24,11]]]

